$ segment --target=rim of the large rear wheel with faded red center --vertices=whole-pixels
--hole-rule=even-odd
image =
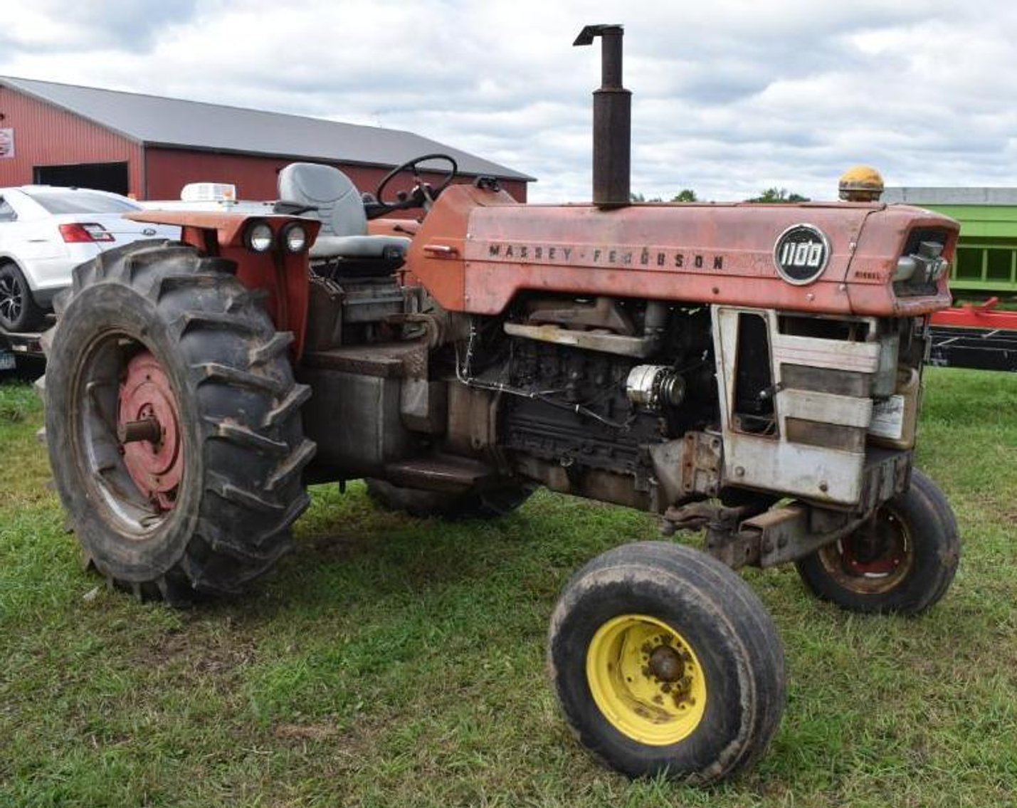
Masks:
[[[74,389],[72,445],[85,485],[118,532],[145,538],[174,510],[185,471],[169,378],[143,343],[107,333],[84,351]]]

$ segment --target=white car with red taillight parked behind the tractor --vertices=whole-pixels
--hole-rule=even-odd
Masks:
[[[180,237],[180,228],[132,222],[141,206],[88,188],[0,188],[0,328],[41,327],[71,270],[139,238]]]

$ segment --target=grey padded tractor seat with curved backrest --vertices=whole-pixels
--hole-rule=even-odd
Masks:
[[[321,230],[311,244],[312,258],[380,258],[402,263],[410,239],[367,235],[367,217],[360,191],[338,168],[318,163],[291,163],[279,172],[281,206],[310,207],[308,216],[320,220]]]

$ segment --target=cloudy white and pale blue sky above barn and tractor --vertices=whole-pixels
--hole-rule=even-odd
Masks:
[[[633,189],[1017,185],[1009,0],[4,0],[0,74],[408,129],[590,195],[586,23],[625,26]]]

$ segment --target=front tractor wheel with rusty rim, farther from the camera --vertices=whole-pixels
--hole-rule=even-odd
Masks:
[[[917,469],[871,524],[797,562],[812,592],[850,612],[918,615],[937,603],[960,559],[957,520]]]

